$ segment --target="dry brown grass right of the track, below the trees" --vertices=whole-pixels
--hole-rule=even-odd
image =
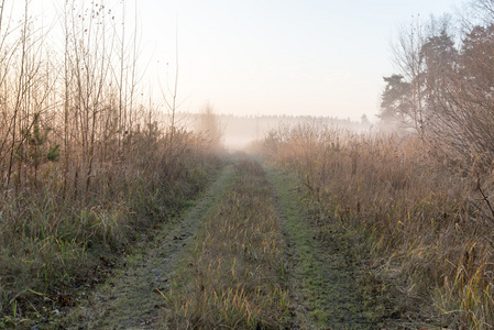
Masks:
[[[305,124],[272,132],[267,157],[296,170],[310,200],[369,240],[395,280],[403,317],[437,326],[494,324],[494,219],[468,168],[421,140]],[[481,176],[488,196],[488,174]],[[482,179],[481,179],[482,183]],[[319,219],[325,228],[325,217]]]

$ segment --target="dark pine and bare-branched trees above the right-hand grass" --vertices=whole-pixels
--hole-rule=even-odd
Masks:
[[[393,45],[378,117],[415,131],[454,162],[494,161],[494,1],[469,14],[413,19]]]

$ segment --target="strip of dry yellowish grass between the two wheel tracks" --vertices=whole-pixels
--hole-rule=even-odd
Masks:
[[[283,241],[273,190],[262,167],[235,165],[235,178],[208,216],[169,292],[168,323],[178,329],[278,329],[288,300],[279,285]]]

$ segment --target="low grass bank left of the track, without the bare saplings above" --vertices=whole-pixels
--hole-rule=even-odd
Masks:
[[[98,173],[90,198],[63,198],[56,164],[40,188],[0,197],[0,326],[28,327],[75,305],[78,288],[101,282],[143,231],[173,221],[205,186],[218,163],[207,143],[179,132],[169,152],[166,141]]]

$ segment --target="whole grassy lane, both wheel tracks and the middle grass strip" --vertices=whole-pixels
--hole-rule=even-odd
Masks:
[[[380,284],[359,270],[359,250],[339,226],[321,237],[296,185],[252,160],[226,167],[76,309],[72,328],[378,329]]]

